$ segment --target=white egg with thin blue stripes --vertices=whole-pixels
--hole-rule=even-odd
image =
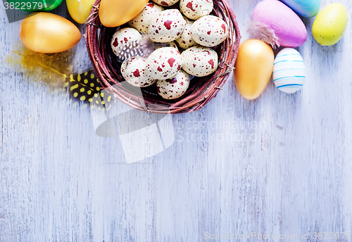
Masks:
[[[293,94],[301,89],[306,80],[306,67],[301,54],[292,48],[280,51],[274,61],[272,79],[280,91]]]

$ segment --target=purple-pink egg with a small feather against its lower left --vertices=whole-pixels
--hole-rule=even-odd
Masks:
[[[260,1],[251,14],[249,33],[271,46],[298,47],[307,39],[301,18],[281,1]]]

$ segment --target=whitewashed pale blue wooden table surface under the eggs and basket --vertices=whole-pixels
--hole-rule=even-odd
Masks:
[[[230,1],[242,40],[258,2]],[[351,18],[352,1],[336,2]],[[53,12],[69,18],[65,4]],[[284,94],[271,81],[246,101],[231,75],[205,108],[172,115],[169,148],[127,165],[119,137],[97,136],[89,109],[53,97],[6,63],[20,22],[0,13],[1,242],[237,241],[251,233],[351,241],[351,19],[334,46],[315,42],[314,18],[304,19],[301,91]],[[83,39],[77,51],[75,67],[89,67]]]

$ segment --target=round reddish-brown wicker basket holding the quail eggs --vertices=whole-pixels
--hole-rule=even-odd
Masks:
[[[218,70],[206,77],[191,79],[186,94],[175,100],[163,99],[158,95],[155,86],[142,88],[143,98],[141,98],[139,88],[132,87],[132,85],[126,88],[125,84],[120,84],[120,82],[126,82],[121,75],[120,63],[116,60],[110,44],[116,27],[101,25],[98,14],[100,1],[96,0],[87,19],[84,39],[96,75],[99,77],[101,85],[108,92],[132,108],[152,113],[193,112],[205,106],[211,98],[218,94],[232,72],[241,39],[236,16],[227,0],[213,0],[214,9],[210,13],[225,20],[230,30],[230,37],[213,48],[219,57]]]

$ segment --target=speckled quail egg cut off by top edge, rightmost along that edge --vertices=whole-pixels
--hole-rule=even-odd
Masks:
[[[196,20],[213,11],[213,0],[180,0],[180,10],[187,18]]]

